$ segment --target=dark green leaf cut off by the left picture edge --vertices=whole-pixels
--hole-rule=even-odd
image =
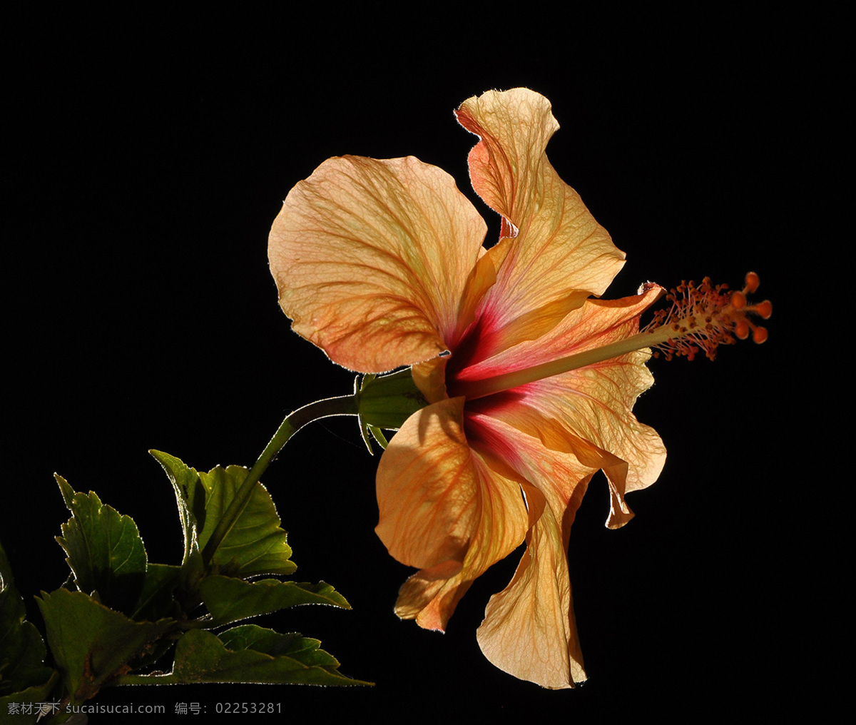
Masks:
[[[53,674],[45,666],[45,642],[33,623],[24,621],[26,615],[0,544],[0,696],[45,686]]]

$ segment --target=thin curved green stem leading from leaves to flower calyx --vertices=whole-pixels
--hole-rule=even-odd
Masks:
[[[214,532],[211,533],[211,538],[208,539],[205,549],[202,550],[202,558],[205,564],[207,565],[211,562],[211,558],[214,556],[214,552],[217,551],[217,547],[223,543],[223,539],[232,530],[232,526],[235,526],[235,521],[241,516],[244,508],[247,508],[247,502],[249,502],[250,496],[253,493],[253,486],[259,483],[259,478],[262,477],[262,473],[270,465],[270,461],[276,458],[276,454],[282,450],[282,446],[288,443],[288,439],[294,436],[294,433],[300,431],[300,428],[307,423],[312,423],[313,420],[330,418],[334,415],[357,415],[359,413],[359,395],[340,395],[336,398],[325,398],[323,401],[309,403],[309,405],[298,408],[294,413],[289,413],[285,420],[282,421],[282,425],[276,429],[276,433],[270,439],[270,443],[265,446],[262,455],[259,455],[259,460],[253,464],[250,472],[247,473],[247,478],[244,479],[241,488],[235,492],[235,498],[229,503],[229,507],[226,508],[223,518],[215,527]]]

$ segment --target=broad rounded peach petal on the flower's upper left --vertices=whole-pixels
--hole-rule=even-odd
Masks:
[[[270,270],[295,332],[339,365],[387,371],[447,348],[484,231],[442,169],[330,158],[288,193]]]

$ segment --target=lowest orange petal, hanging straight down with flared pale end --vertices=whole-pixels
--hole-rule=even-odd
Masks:
[[[574,686],[586,673],[574,622],[568,539],[595,469],[478,413],[467,413],[467,431],[493,449],[503,440],[508,465],[532,482],[523,484],[530,523],[526,553],[511,583],[490,598],[479,645],[491,663],[515,677],[544,687]]]

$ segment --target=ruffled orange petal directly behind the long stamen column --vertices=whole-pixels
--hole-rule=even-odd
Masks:
[[[466,374],[473,379],[490,377],[634,335],[639,314],[657,294],[659,290],[651,288],[621,300],[586,300],[538,341],[522,342]],[[473,401],[468,407],[539,437],[550,449],[573,453],[580,462],[603,468],[611,497],[607,526],[617,528],[633,518],[625,493],[654,483],[666,457],[657,432],[632,413],[639,394],[654,382],[645,367],[648,358],[645,351],[621,355]]]

